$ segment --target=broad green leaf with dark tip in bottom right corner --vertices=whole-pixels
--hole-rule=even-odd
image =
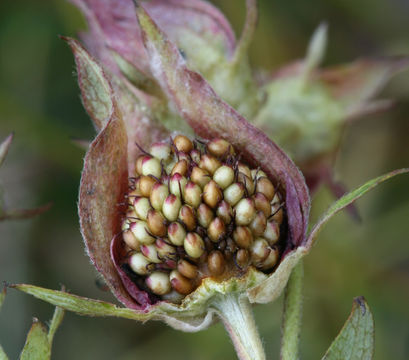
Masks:
[[[374,352],[374,322],[365,299],[354,299],[351,315],[322,360],[370,360]]]

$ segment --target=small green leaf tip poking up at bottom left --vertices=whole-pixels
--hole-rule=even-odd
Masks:
[[[46,360],[50,359],[50,356],[51,346],[47,328],[34,318],[20,360]]]

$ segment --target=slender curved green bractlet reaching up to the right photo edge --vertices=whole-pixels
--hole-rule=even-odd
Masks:
[[[390,173],[387,173],[385,175],[379,176],[375,179],[369,180],[359,188],[351,191],[350,193],[344,195],[340,199],[338,199],[336,202],[334,202],[328,210],[321,216],[321,218],[318,220],[318,222],[314,225],[312,228],[308,239],[307,239],[307,247],[310,247],[319,232],[321,231],[322,227],[330,220],[336,213],[340,212],[342,209],[347,207],[348,205],[352,204],[355,200],[359,199],[362,195],[367,193],[369,190],[372,190],[374,187],[378,186],[379,184],[383,183],[384,181],[399,175],[399,174],[405,174],[409,172],[409,168],[404,168],[404,169],[399,169],[395,171],[391,171]]]

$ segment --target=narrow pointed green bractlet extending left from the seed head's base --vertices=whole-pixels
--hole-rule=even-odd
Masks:
[[[26,284],[10,285],[10,287],[79,315],[115,316],[140,321],[145,321],[152,317],[151,313],[120,308],[111,303],[72,295],[64,291],[50,290]]]

